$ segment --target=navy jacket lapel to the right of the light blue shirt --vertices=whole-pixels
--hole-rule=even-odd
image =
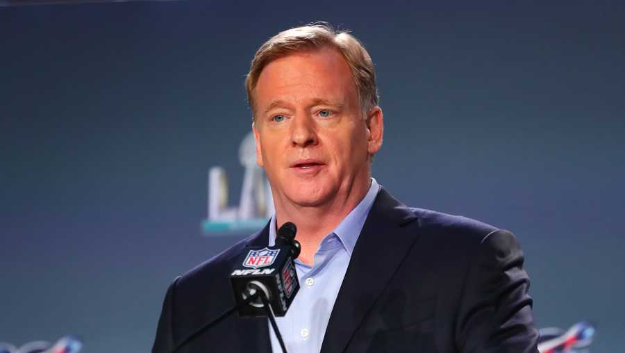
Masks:
[[[416,216],[381,188],[353,249],[330,315],[323,353],[344,352],[415,242],[416,237],[402,227],[413,220]]]

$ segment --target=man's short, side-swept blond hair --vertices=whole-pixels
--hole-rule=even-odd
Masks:
[[[326,22],[315,22],[282,31],[258,48],[245,79],[247,101],[252,113],[255,114],[253,90],[265,66],[273,60],[293,53],[317,51],[326,47],[337,49],[347,61],[363,112],[367,113],[377,106],[376,72],[373,61],[363,44],[349,34],[349,31],[336,31]],[[252,119],[255,118],[252,117]]]

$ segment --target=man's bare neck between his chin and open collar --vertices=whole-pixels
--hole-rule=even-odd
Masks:
[[[319,243],[367,195],[370,180],[367,177],[366,183],[353,183],[344,197],[334,197],[331,202],[319,206],[298,206],[276,200],[276,227],[279,228],[285,222],[297,225],[297,240],[301,244],[300,261],[313,265]]]

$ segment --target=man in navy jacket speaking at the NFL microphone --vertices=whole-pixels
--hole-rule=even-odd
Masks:
[[[374,65],[325,24],[278,33],[246,80],[258,164],[276,213],[265,229],[169,287],[153,352],[235,303],[246,247],[297,224],[302,288],[278,328],[290,352],[537,352],[523,255],[508,231],[408,208],[371,177],[383,140]],[[219,322],[183,352],[281,352],[266,318]]]

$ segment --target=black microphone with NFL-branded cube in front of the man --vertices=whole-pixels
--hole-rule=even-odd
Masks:
[[[294,260],[301,245],[295,240],[296,233],[295,224],[286,222],[278,229],[276,245],[253,247],[235,262],[230,281],[239,316],[266,316],[263,299],[274,315],[286,314],[299,290]],[[249,300],[252,296],[255,298]]]

